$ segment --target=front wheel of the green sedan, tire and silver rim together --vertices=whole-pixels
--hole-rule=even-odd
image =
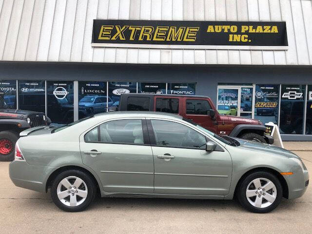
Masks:
[[[273,211],[281,202],[283,189],[276,176],[269,172],[255,172],[239,185],[239,203],[254,213]]]

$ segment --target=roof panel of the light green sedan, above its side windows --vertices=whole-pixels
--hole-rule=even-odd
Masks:
[[[94,117],[165,117],[171,119],[182,119],[182,116],[177,114],[165,113],[165,112],[153,112],[153,111],[115,111],[115,112],[104,112],[94,115]]]

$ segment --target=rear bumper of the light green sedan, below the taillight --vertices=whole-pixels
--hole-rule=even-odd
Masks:
[[[55,167],[33,166],[19,160],[9,164],[9,175],[16,186],[38,192],[45,192],[46,181],[54,170]]]

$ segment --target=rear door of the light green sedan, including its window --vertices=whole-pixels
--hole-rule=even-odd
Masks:
[[[109,193],[153,193],[154,161],[146,120],[116,119],[80,136],[85,165]]]

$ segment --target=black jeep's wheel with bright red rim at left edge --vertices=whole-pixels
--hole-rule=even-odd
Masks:
[[[14,159],[15,143],[18,138],[14,132],[0,132],[0,161],[12,161]]]

